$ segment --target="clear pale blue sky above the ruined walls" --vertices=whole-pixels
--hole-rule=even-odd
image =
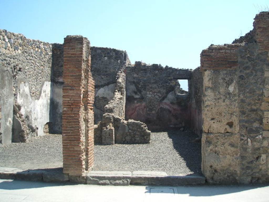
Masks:
[[[126,50],[132,63],[195,69],[203,49],[249,32],[268,6],[268,0],[1,0],[0,29],[50,43],[81,34],[91,46]]]

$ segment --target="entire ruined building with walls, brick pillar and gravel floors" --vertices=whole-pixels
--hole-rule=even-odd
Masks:
[[[63,167],[69,179],[144,170],[268,182],[268,39],[261,12],[252,31],[211,44],[190,70],[131,64],[126,51],[91,47],[80,35],[50,44],[0,30],[3,166]],[[188,92],[178,80],[188,80]]]

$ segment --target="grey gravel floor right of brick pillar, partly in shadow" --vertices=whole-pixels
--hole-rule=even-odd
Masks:
[[[201,143],[193,142],[195,138],[188,131],[172,130],[151,133],[150,144],[95,145],[93,169],[201,174]]]

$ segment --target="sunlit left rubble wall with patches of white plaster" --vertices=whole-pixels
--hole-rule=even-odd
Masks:
[[[0,30],[3,144],[44,134],[49,122],[51,59],[51,44]]]

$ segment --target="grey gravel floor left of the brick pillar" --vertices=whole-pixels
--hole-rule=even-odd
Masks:
[[[0,167],[20,169],[63,166],[62,135],[48,134],[26,143],[0,144]]]

